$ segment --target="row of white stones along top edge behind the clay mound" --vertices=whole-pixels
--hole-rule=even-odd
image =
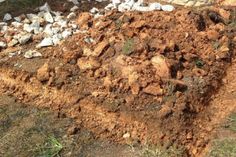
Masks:
[[[175,8],[172,5],[162,5],[160,3],[154,2],[145,5],[143,0],[112,0],[112,3],[108,4],[105,7],[106,10],[118,9],[120,12],[124,11],[154,11],[154,10],[163,10],[163,11],[173,11]]]

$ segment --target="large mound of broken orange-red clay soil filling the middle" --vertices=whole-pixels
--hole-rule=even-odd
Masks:
[[[192,123],[234,54],[231,17],[216,8],[112,11],[99,19],[82,13],[78,24],[87,31],[39,50],[42,58],[9,58],[13,50],[3,50],[1,87],[75,118],[99,138],[177,143],[197,156],[208,139],[195,136]]]

